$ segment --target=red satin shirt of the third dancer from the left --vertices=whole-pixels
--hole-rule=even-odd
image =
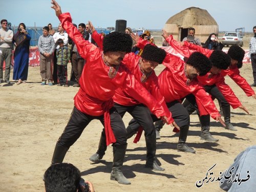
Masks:
[[[204,88],[199,85],[197,79],[192,80],[187,84],[185,75],[185,62],[179,57],[167,54],[163,65],[166,68],[159,74],[158,82],[161,94],[166,102],[180,100],[188,94],[193,94],[196,97],[200,115],[210,114],[214,119],[220,116],[214,102]]]

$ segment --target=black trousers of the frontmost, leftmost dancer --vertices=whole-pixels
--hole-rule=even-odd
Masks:
[[[74,106],[73,112],[71,114],[71,117],[69,119],[69,122],[67,126],[65,127],[65,130],[63,131],[62,135],[59,137],[57,141],[57,145],[63,146],[63,147],[70,147],[73,145],[76,140],[80,137],[82,134],[84,128],[93,120],[98,119],[104,126],[104,116],[91,116],[85,113],[80,112],[76,107]],[[125,125],[122,121],[121,116],[117,112],[117,110],[113,107],[110,110],[110,123],[111,128],[113,130],[113,133],[116,138],[116,143],[113,143],[113,146],[116,145],[126,145],[127,142],[127,132],[125,129]]]

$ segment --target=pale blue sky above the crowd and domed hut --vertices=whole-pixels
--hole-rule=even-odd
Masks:
[[[1,19],[12,25],[58,26],[58,18],[50,0],[1,0]],[[76,24],[91,20],[97,27],[115,27],[116,19],[127,20],[127,27],[162,29],[169,17],[188,7],[206,9],[219,25],[220,31],[245,27],[252,32],[256,26],[256,0],[59,0],[62,12],[70,12]]]

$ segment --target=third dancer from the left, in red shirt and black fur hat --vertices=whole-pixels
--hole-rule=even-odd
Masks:
[[[198,75],[205,75],[211,69],[211,63],[206,56],[195,52],[186,59],[186,62],[175,55],[167,54],[163,65],[166,68],[158,76],[158,82],[160,93],[164,96],[169,111],[172,112],[175,122],[180,127],[177,149],[182,152],[195,153],[196,151],[185,143],[190,121],[181,100],[191,93],[194,94],[197,101],[202,103],[200,105],[202,115],[210,114],[212,118],[224,124],[214,102],[196,79]],[[156,120],[157,118],[153,116],[153,121]],[[129,126],[134,132],[139,127],[134,120],[129,123]]]

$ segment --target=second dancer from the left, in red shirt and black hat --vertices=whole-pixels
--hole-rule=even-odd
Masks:
[[[95,31],[91,22],[89,22],[93,31],[93,38],[95,39],[97,45],[102,47],[102,36]],[[146,45],[141,57],[135,55],[134,53],[126,54],[123,63],[129,70],[134,74],[138,82],[152,94],[156,100],[163,105],[165,109],[166,116],[169,122],[172,122],[174,126],[179,129],[177,124],[174,122],[171,113],[168,111],[166,103],[164,102],[163,96],[159,92],[159,85],[157,76],[154,69],[163,62],[166,52],[153,45]],[[144,93],[141,93],[142,95]],[[129,112],[136,121],[143,127],[145,131],[145,141],[146,141],[146,167],[152,168],[154,170],[164,170],[156,162],[156,131],[155,126],[151,118],[151,113],[147,107],[141,104],[139,101],[134,99],[129,92],[122,89],[117,89],[113,97],[115,102],[115,108],[121,117],[124,116],[125,112]],[[127,129],[127,138],[134,135],[133,130]],[[98,151],[90,157],[90,160],[96,162],[103,158],[106,151],[105,144],[105,133],[104,129],[101,133],[101,138],[99,142]]]

